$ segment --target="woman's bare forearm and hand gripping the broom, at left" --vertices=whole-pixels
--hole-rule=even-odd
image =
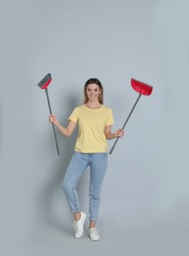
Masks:
[[[70,137],[72,135],[77,125],[75,122],[69,121],[67,127],[64,127],[60,124],[58,118],[54,114],[49,115],[49,121],[54,123],[58,130],[66,137]]]

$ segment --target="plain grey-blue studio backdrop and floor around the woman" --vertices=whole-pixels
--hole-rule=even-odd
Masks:
[[[0,254],[188,255],[188,1],[0,3]],[[138,96],[130,79],[154,86],[109,156],[98,243],[87,233],[73,238],[61,183],[76,133],[58,134],[58,157],[45,93],[36,87],[48,72],[63,124],[91,77],[103,84],[113,130]],[[79,184],[84,211],[88,179]]]

